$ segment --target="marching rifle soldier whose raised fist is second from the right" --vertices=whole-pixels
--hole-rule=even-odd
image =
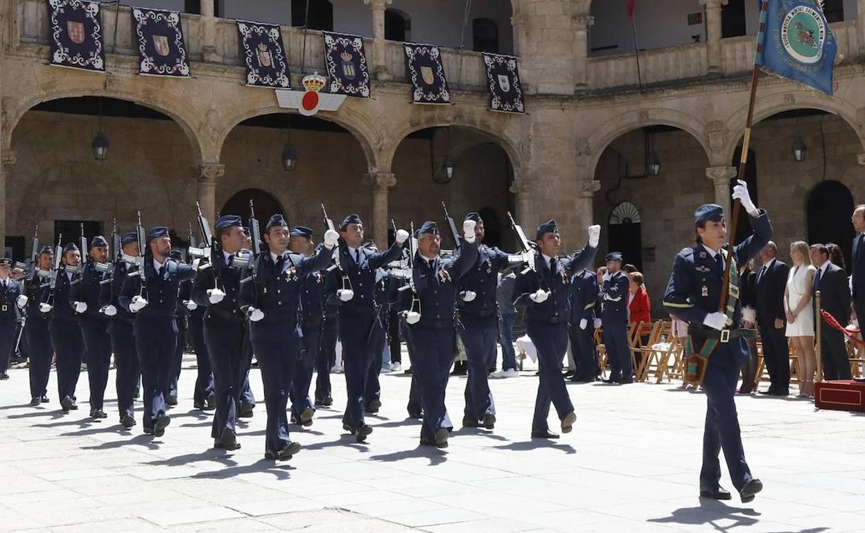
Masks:
[[[418,251],[413,259],[412,291],[420,305],[406,315],[413,343],[413,378],[420,391],[424,422],[422,446],[447,447],[452,424],[445,408],[445,389],[457,346],[459,284],[477,261],[475,221],[463,222],[464,244],[457,257],[439,257],[441,236],[435,222],[415,232]],[[485,366],[484,366],[485,368]]]

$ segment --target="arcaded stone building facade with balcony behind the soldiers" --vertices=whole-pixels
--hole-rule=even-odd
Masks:
[[[639,77],[634,54],[592,53],[591,0],[500,2],[520,57],[525,115],[489,111],[480,55],[457,49],[443,48],[445,69],[459,73],[450,74],[454,105],[408,104],[400,43],[384,39],[391,3],[351,3],[369,13],[374,98],[348,98],[339,111],[320,112],[316,120],[330,127],[283,128],[256,122],[288,110],[274,92],[241,85],[234,21],[214,16],[206,2],[201,15],[183,15],[193,77],[163,79],[138,75],[128,7],[102,6],[107,73],[97,74],[46,64],[43,0],[0,0],[0,235],[7,246],[15,238],[23,243],[36,223],[48,228],[43,241],[56,238],[50,229],[57,220],[98,221],[107,232],[117,218],[128,230],[139,209],[145,223],[184,235],[196,200],[212,220],[247,189],[270,194],[292,223],[320,227],[323,201],[334,218],[360,213],[384,242],[391,218],[400,225],[440,219],[445,200],[455,216],[487,208],[501,223],[512,211],[527,227],[554,218],[567,247],[582,244],[587,225],[603,225],[605,251],[636,245],[660,310],[670,260],[693,238],[695,205],[729,204],[755,42],[753,35],[721,38],[726,0],[693,0],[704,37],[642,51]],[[849,219],[843,208],[865,193],[865,0],[856,7],[855,16],[832,24],[843,56],[835,97],[760,80],[753,181],[782,249],[813,236],[843,241],[838,217]],[[306,30],[301,57],[304,30],[282,33],[298,86],[302,65],[304,73],[323,70],[321,37]],[[61,98],[113,98],[158,116],[45,107]],[[89,151],[99,129],[112,142],[106,162],[94,162]],[[791,155],[797,137],[807,148],[804,162]],[[298,151],[292,173],[281,168],[285,143]],[[647,146],[660,158],[657,176],[645,175]],[[439,184],[433,177],[445,157],[457,170]],[[827,210],[827,198],[844,207]],[[621,202],[638,210],[638,226],[611,228]],[[623,243],[623,235],[630,240]]]

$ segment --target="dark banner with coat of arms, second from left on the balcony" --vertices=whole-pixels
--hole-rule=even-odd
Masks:
[[[179,13],[132,8],[132,32],[138,45],[139,73],[189,77]]]

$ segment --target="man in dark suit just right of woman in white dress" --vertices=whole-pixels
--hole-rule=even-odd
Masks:
[[[850,289],[847,275],[829,260],[829,248],[823,244],[811,244],[811,263],[817,267],[814,275],[814,291],[820,291],[820,306],[831,314],[842,326],[850,320]],[[816,300],[816,299],[815,299]],[[831,327],[820,317],[819,311],[814,312],[823,322],[820,338],[820,355],[823,359],[823,378],[850,379],[850,363],[847,348],[844,346],[844,334]]]

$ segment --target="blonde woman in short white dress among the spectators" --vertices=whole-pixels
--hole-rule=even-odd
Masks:
[[[787,337],[796,349],[799,365],[799,395],[814,395],[814,372],[817,358],[814,355],[814,308],[811,306],[813,280],[817,269],[811,264],[808,244],[796,241],[790,245],[793,268],[787,277],[784,290],[784,307],[787,314]]]

